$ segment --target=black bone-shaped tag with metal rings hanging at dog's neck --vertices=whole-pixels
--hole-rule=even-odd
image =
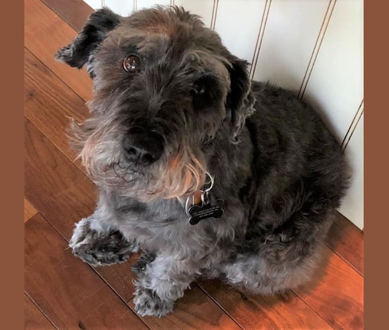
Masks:
[[[224,201],[216,199],[215,204],[211,204],[209,197],[209,191],[212,189],[214,184],[213,177],[208,173],[205,174],[209,177],[209,187],[204,187],[196,191],[193,195],[186,199],[185,212],[189,216],[189,224],[197,224],[201,220],[207,218],[219,218],[223,215],[224,210],[222,209]]]

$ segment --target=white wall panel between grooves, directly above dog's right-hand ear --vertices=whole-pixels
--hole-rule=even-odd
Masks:
[[[250,63],[254,55],[265,0],[219,0],[215,31],[223,44],[236,56]]]

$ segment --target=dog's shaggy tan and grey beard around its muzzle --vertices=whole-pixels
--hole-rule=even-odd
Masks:
[[[107,120],[104,125],[94,117],[81,124],[72,120],[71,130],[71,145],[98,186],[148,202],[156,199],[183,201],[204,185],[204,155],[186,137],[155,163],[141,167],[128,163],[123,157],[122,146],[118,143],[123,131],[114,120]]]

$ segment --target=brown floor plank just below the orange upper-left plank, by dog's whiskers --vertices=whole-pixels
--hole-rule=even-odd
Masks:
[[[85,120],[88,117],[85,102],[27,49],[24,49],[24,115],[69,159],[76,158],[68,144],[68,118]]]

